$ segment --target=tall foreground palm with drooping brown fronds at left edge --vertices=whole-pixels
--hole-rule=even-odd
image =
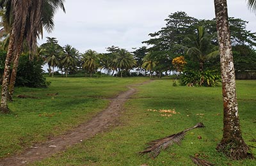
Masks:
[[[29,48],[35,51],[36,40],[39,34],[42,34],[43,27],[46,27],[48,31],[53,28],[52,18],[56,9],[60,7],[65,11],[63,1],[64,0],[0,1],[0,8],[6,10],[6,24],[9,24],[11,27],[2,82],[1,112],[9,112],[7,98],[9,94],[8,86],[12,56],[15,55],[15,59],[17,60],[13,64],[13,68],[16,68],[16,70],[13,70],[12,73],[13,79],[10,81],[12,85],[11,89],[13,89],[15,84],[17,66],[24,39],[28,42]]]

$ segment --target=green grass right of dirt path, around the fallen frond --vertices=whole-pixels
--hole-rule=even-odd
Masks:
[[[228,160],[215,150],[223,127],[221,87],[173,87],[171,80],[155,80],[138,89],[140,91],[126,103],[127,111],[120,119],[120,126],[33,165],[181,166],[194,165],[189,155],[195,154],[217,165],[256,165],[255,160]],[[255,92],[255,80],[237,81],[241,130],[251,146],[256,146],[250,142],[256,137]],[[164,117],[148,109],[175,109],[180,114]],[[138,156],[146,142],[180,132],[198,122],[206,127],[188,132],[180,146],[163,151],[154,160],[147,155]],[[202,139],[197,138],[199,135]],[[255,148],[252,152],[256,155]]]

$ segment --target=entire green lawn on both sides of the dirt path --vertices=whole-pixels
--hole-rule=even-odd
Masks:
[[[144,80],[58,78],[51,79],[49,89],[17,89],[17,94],[40,99],[15,98],[10,104],[13,114],[0,117],[0,148],[4,149],[1,156],[19,152],[33,142],[58,135],[90,119],[108,104],[104,98],[124,91],[127,84]],[[255,160],[228,160],[215,150],[223,126],[221,87],[173,87],[172,80],[163,79],[138,89],[125,105],[120,126],[33,165],[194,165],[189,155],[216,165],[256,165]],[[56,96],[47,95],[57,92]],[[237,98],[244,140],[256,146],[256,142],[250,141],[256,139],[256,81],[237,80]],[[177,114],[172,116],[151,111],[173,109]],[[147,155],[138,156],[150,140],[180,132],[198,122],[206,127],[188,132],[180,146],[168,148],[154,160]],[[255,148],[252,153],[256,155]]]

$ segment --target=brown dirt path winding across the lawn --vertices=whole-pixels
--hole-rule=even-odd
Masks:
[[[142,84],[147,82],[143,82]],[[80,124],[77,128],[74,128],[74,130],[65,135],[54,137],[42,144],[35,144],[20,155],[4,158],[0,160],[0,166],[23,166],[27,163],[42,160],[60,151],[65,151],[67,147],[74,146],[83,140],[90,139],[97,133],[108,130],[109,126],[117,126],[118,116],[120,116],[120,113],[122,112],[124,103],[134,93],[136,93],[136,89],[133,86],[129,86],[128,91],[118,94],[116,98],[112,99],[107,109],[97,114],[97,116],[93,117],[90,121]]]

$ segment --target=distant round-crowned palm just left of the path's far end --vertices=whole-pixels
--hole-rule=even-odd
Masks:
[[[131,70],[136,61],[132,54],[125,49],[118,50],[116,54],[116,66],[121,71],[121,77],[123,77],[124,70]]]

